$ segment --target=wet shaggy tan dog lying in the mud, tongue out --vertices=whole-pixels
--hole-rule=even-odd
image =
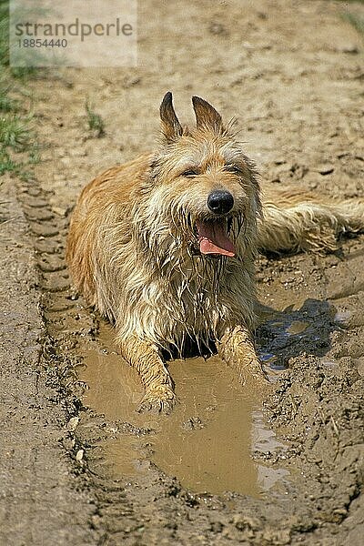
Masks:
[[[157,152],[88,184],[67,241],[76,289],[115,323],[122,355],[140,374],[139,410],[171,410],[164,357],[191,345],[217,350],[242,384],[264,385],[251,337],[257,249],[332,249],[340,232],[364,228],[363,200],[320,203],[286,188],[262,207],[257,171],[231,127],[205,100],[192,102],[189,129],[167,93]]]

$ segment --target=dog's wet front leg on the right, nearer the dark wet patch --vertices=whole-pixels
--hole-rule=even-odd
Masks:
[[[250,332],[244,326],[237,326],[223,336],[218,346],[218,354],[231,368],[238,371],[243,385],[267,385],[267,374],[258,359]]]

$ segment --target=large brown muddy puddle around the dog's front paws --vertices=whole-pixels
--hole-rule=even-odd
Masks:
[[[86,405],[107,420],[153,430],[141,438],[123,435],[103,445],[115,478],[146,471],[147,460],[152,460],[190,490],[235,490],[253,497],[262,496],[281,478],[279,471],[252,459],[252,450],[274,450],[280,444],[264,423],[260,400],[236,384],[220,359],[171,362],[177,408],[167,417],[139,415],[143,389],[136,371],[117,354],[108,325],[102,325],[99,341],[102,349],[86,351],[80,374],[89,386]]]

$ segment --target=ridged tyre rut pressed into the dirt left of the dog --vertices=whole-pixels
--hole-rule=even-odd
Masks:
[[[120,485],[88,468],[86,456],[80,455],[92,448],[90,438],[76,433],[79,420],[83,421],[86,430],[93,428],[96,432],[105,429],[106,424],[102,417],[83,406],[79,395],[85,385],[77,381],[76,374],[80,362],[76,356],[77,337],[87,335],[93,338],[97,329],[96,319],[70,289],[64,258],[66,218],[56,217],[47,192],[35,179],[19,181],[17,194],[29,225],[39,270],[41,310],[46,330],[40,366],[45,372],[47,385],[56,389],[55,401],[62,406],[68,421],[63,445],[69,456],[71,472],[82,479],[84,490],[91,494],[96,505],[87,524],[96,532],[95,543],[110,544],[109,537],[115,533],[107,530],[113,527],[110,521],[114,520],[116,512],[132,516],[133,510],[126,503]],[[118,536],[118,540],[123,538],[127,538],[127,533]]]

